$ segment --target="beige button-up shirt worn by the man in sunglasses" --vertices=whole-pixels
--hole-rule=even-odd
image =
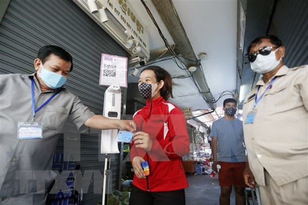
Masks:
[[[257,82],[245,98],[243,129],[250,169],[257,184],[265,186],[264,169],[278,186],[308,176],[308,66],[283,66],[276,80],[257,104],[253,124],[245,124],[248,112],[267,85]],[[270,81],[270,80],[269,80]]]

